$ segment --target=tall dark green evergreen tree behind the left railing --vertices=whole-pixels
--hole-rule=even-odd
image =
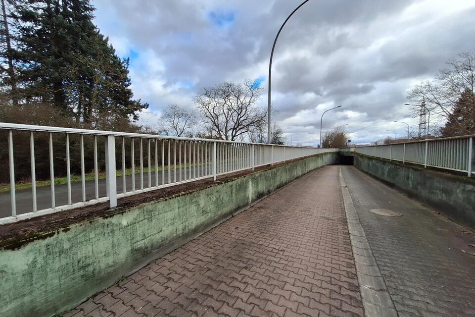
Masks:
[[[148,105],[133,100],[128,60],[92,22],[89,0],[10,0],[14,56],[23,104],[54,105],[77,123],[136,120]]]

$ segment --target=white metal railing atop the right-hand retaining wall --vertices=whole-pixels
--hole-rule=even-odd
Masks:
[[[474,135],[355,148],[356,153],[475,175]]]

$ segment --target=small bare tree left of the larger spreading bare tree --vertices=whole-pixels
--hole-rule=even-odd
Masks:
[[[196,124],[196,113],[177,104],[169,104],[162,110],[161,120],[165,127],[177,137],[190,135]]]

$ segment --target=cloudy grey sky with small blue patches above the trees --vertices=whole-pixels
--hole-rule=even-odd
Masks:
[[[202,87],[259,80],[274,37],[301,0],[93,0],[95,23],[131,58],[132,88],[156,124],[169,103],[192,108]],[[407,133],[408,90],[474,51],[474,0],[310,0],[285,25],[273,62],[275,119],[286,141],[315,146],[348,124],[353,142]]]

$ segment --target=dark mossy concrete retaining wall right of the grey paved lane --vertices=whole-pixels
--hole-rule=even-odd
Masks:
[[[356,154],[356,168],[475,230],[475,179]]]

